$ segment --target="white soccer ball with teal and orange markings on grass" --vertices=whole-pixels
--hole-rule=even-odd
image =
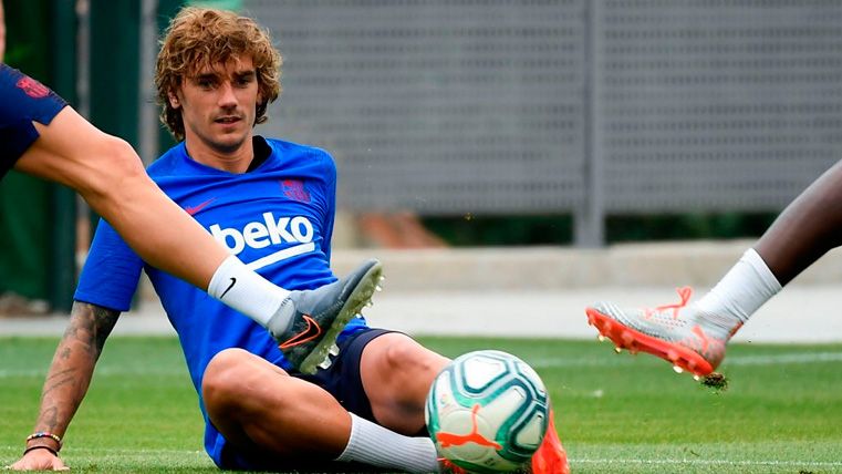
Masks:
[[[478,473],[514,471],[547,432],[550,401],[534,370],[492,350],[458,357],[433,381],[424,410],[438,453]]]

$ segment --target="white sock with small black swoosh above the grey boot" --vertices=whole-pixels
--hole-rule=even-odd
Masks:
[[[290,291],[272,285],[233,255],[217,268],[208,295],[267,327]]]

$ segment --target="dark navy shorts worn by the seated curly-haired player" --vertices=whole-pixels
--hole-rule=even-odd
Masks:
[[[312,382],[326,390],[342,406],[360,418],[368,421],[374,420],[372,405],[363,389],[363,380],[360,377],[360,359],[363,349],[377,337],[394,332],[385,329],[364,329],[340,341],[340,353],[331,357],[331,367],[320,369],[313,375],[291,373],[292,377]],[[208,429],[212,429],[209,426]],[[289,461],[277,457],[260,456],[253,453],[242,453],[233,445],[226,442],[225,437],[217,432],[217,442],[211,453],[214,462],[224,470],[229,471],[281,471],[300,470],[302,472],[336,472],[337,470],[353,472],[380,472],[375,467],[356,463],[337,463],[332,460],[308,460],[305,465],[294,465]],[[392,470],[394,471],[394,470]]]

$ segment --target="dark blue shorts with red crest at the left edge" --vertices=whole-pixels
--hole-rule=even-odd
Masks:
[[[66,105],[49,87],[0,63],[0,178],[38,140],[32,121],[49,125]]]

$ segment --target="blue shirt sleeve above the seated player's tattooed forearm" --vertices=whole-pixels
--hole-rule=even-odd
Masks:
[[[100,220],[73,299],[128,311],[144,262],[105,220]]]

